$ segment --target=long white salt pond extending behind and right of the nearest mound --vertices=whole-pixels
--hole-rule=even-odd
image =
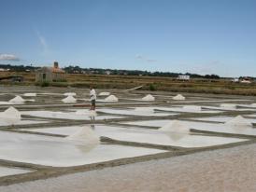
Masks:
[[[78,131],[80,126],[71,127],[58,127],[58,128],[45,128],[33,129],[29,131],[44,132],[60,135],[71,135]],[[108,137],[114,140],[145,143],[145,144],[159,144],[180,147],[204,147],[218,144],[230,144],[242,142],[246,140],[224,138],[224,137],[211,137],[191,134],[177,133],[164,133],[159,130],[147,130],[140,128],[123,128],[116,126],[95,125],[94,131],[97,135]],[[178,137],[177,137],[178,136]]]

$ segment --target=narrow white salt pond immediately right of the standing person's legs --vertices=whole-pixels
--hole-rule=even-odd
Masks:
[[[138,109],[140,107],[137,107]],[[145,107],[147,109],[147,107]],[[148,108],[149,109],[149,108]],[[115,115],[126,115],[126,116],[145,116],[145,117],[166,117],[175,116],[175,113],[155,113],[150,110],[135,110],[135,109],[97,109],[99,112]]]

